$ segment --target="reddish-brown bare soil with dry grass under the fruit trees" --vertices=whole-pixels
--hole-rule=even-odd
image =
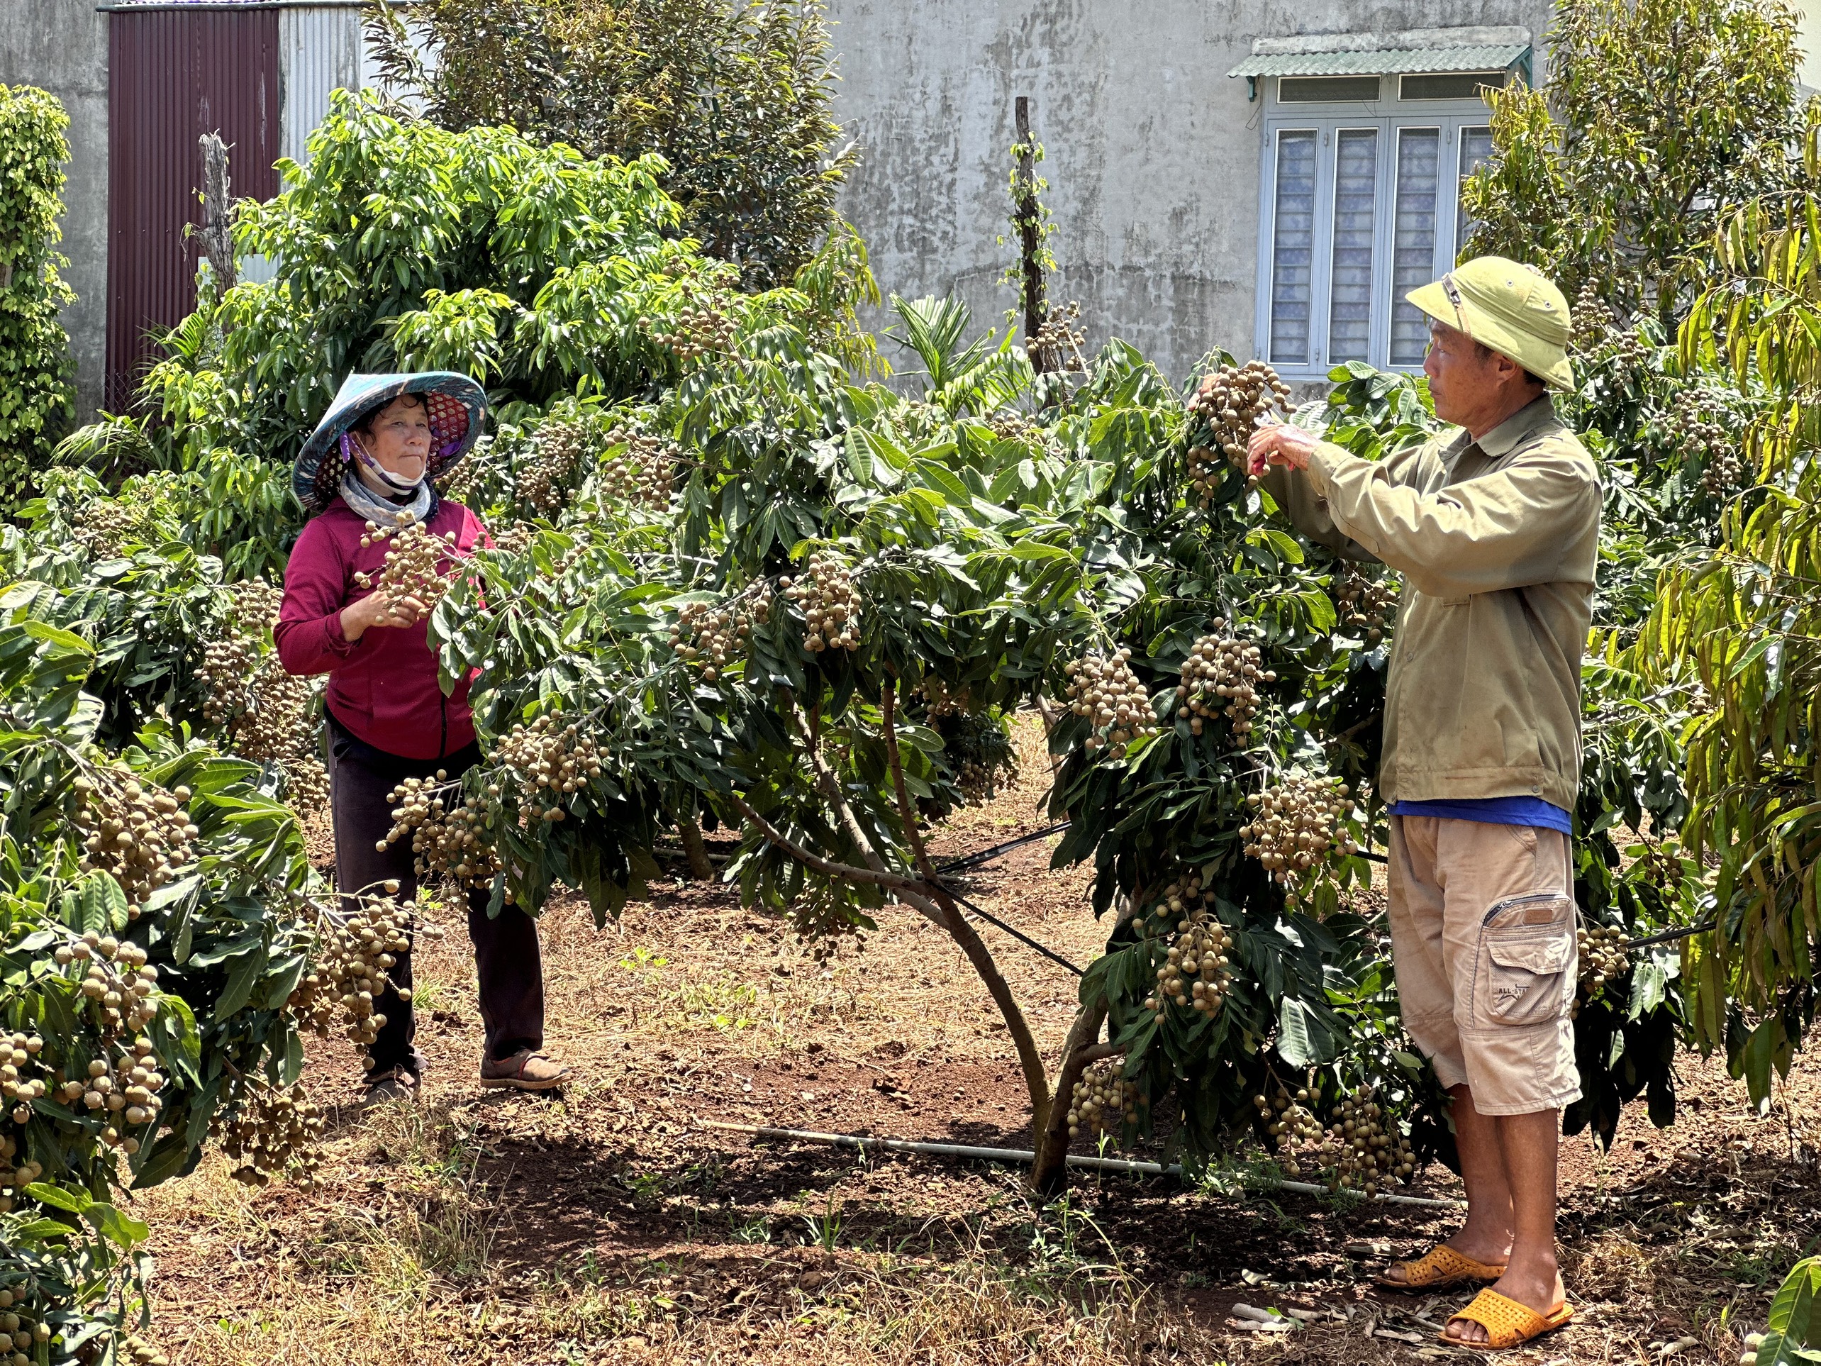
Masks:
[[[1043,827],[1047,763],[940,836],[945,854]],[[1049,840],[983,869],[994,914],[1087,963],[1085,872]],[[597,933],[543,922],[561,1096],[477,1086],[481,1024],[457,914],[419,945],[419,1107],[361,1113],[344,1045],[313,1051],[335,1106],[313,1191],[248,1191],[211,1160],[140,1200],[153,1324],[173,1361],[346,1362],[1311,1362],[1466,1357],[1435,1341],[1464,1295],[1369,1286],[1448,1211],[1260,1191],[1256,1155],[1204,1186],[1078,1178],[1040,1206],[1014,1167],[752,1142],[708,1120],[1029,1146],[1011,1044],[952,943],[889,911],[818,963],[717,885],[676,883]],[[985,929],[1054,1055],[1073,976]],[[1054,1058],[1053,1058],[1054,1062]],[[1735,1362],[1770,1291],[1821,1244],[1821,1067],[1768,1115],[1719,1064],[1681,1064],[1683,1115],[1630,1113],[1610,1153],[1564,1140],[1572,1328],[1537,1366]],[[1415,1189],[1459,1195],[1440,1167]],[[1298,1310],[1247,1333],[1235,1302]]]

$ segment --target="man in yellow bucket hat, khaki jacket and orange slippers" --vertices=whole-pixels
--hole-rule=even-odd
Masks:
[[[1555,1249],[1561,1111],[1581,1096],[1570,1007],[1570,810],[1601,490],[1555,417],[1568,302],[1480,257],[1409,295],[1435,415],[1460,432],[1362,461],[1262,428],[1247,470],[1313,539],[1404,576],[1378,789],[1404,1024],[1453,1098],[1468,1218],[1380,1284],[1490,1282],[1446,1341],[1528,1342],[1572,1317]]]

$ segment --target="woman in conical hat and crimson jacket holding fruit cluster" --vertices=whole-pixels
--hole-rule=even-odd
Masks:
[[[395,882],[402,900],[415,898],[412,849],[386,840],[388,794],[408,778],[455,783],[481,759],[468,710],[472,679],[450,694],[437,679],[428,592],[393,592],[379,581],[393,539],[441,541],[444,572],[488,545],[481,521],[439,499],[432,484],[468,454],[484,417],[486,395],[466,375],[350,375],[291,472],[297,499],[315,515],[291,550],[273,636],[291,674],[330,676],[335,878],[348,896]],[[515,905],[488,916],[490,902],[488,887],[468,894],[486,1027],[481,1086],[548,1091],[566,1067],[543,1053],[537,925]],[[368,1102],[413,1098],[424,1065],[413,1047],[410,949],[388,976],[373,1002],[384,1024],[368,1051]]]

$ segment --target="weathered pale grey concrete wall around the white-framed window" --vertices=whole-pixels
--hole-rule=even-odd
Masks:
[[[843,211],[883,291],[960,293],[1003,326],[1012,102],[1031,97],[1060,266],[1093,346],[1138,344],[1182,379],[1249,355],[1260,106],[1227,71],[1253,38],[1522,24],[1550,0],[830,0],[838,117],[863,160]],[[1539,78],[1542,75],[1539,66]],[[889,348],[890,353],[890,348]]]

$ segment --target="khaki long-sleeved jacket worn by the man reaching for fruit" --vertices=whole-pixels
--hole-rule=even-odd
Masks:
[[[1264,486],[1311,539],[1404,576],[1384,801],[1541,796],[1573,810],[1601,490],[1550,399],[1477,443],[1459,432],[1382,463],[1320,443],[1307,470],[1273,468]]]

